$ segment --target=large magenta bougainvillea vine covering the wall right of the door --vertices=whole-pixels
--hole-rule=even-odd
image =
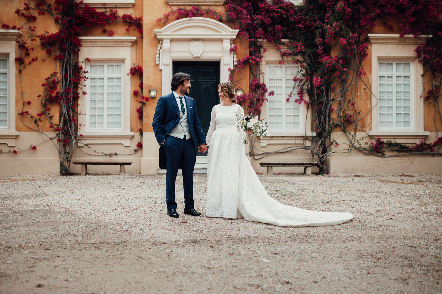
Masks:
[[[437,125],[442,123],[438,104],[442,76],[442,22],[439,18],[442,1],[304,0],[301,5],[294,5],[286,0],[226,0],[225,8],[225,14],[198,7],[172,9],[163,20],[166,23],[171,15],[177,18],[211,15],[239,29],[239,37],[247,41],[248,50],[231,69],[229,80],[236,82],[240,70],[249,68],[248,93],[238,97],[249,111],[260,113],[267,100],[265,71],[261,68],[266,52],[264,42],[273,45],[280,53],[280,64],[298,66],[299,70],[293,76],[295,86],[286,98],[306,104],[311,111],[313,133],[305,134],[311,137],[311,144],[285,148],[281,152],[310,151],[322,173],[326,171],[326,158],[332,153],[357,149],[387,156],[380,154],[376,145],[367,148],[358,144],[356,132],[368,127],[366,116],[369,113],[360,113],[356,108],[356,97],[360,87],[371,91],[362,66],[368,56],[368,34],[380,25],[392,30],[393,18],[400,21],[401,37],[405,34],[413,34],[416,38],[422,34],[433,35],[433,38],[422,40],[416,53],[426,74],[430,74],[431,86],[426,88],[423,99],[434,106],[437,133]],[[267,95],[273,94],[272,91]],[[339,146],[332,138],[335,131],[342,131],[347,136],[347,149],[335,148]],[[431,154],[441,155],[439,143],[439,139],[431,144],[421,142],[417,144],[419,147],[409,147],[408,152],[425,153],[424,149],[430,149]],[[385,144],[383,148],[391,147],[389,151],[400,155],[404,154],[404,146]],[[269,152],[253,153],[255,158],[267,154]]]

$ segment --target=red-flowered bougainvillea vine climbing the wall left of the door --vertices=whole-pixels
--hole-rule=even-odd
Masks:
[[[42,83],[43,94],[38,95],[42,99],[41,112],[32,115],[24,109],[30,102],[25,102],[22,89],[23,107],[19,112],[20,118],[23,124],[51,139],[58,151],[60,173],[67,174],[69,173],[73,152],[81,137],[78,132],[77,106],[82,83],[87,79],[87,72],[77,61],[81,47],[79,37],[84,34],[84,30],[91,26],[102,27],[103,33],[112,36],[114,31],[108,30],[106,27],[114,22],[126,23],[128,26],[126,30],[129,31],[133,28],[142,35],[142,18],[128,14],[120,17],[115,9],[97,11],[95,8],[83,4],[83,1],[74,0],[54,0],[53,2],[38,0],[34,1],[33,4],[24,3],[24,7],[17,9],[15,13],[22,17],[25,23],[22,26],[9,26],[3,23],[2,28],[26,31],[23,39],[17,41],[20,54],[15,58],[15,61],[19,64],[19,73],[38,60],[38,56],[30,57],[30,52],[38,46],[44,52],[42,59],[52,58],[56,68]],[[35,34],[37,27],[33,24],[38,17],[46,14],[52,16],[57,31]],[[37,41],[39,41],[39,44],[33,45],[33,42]],[[86,92],[82,91],[82,94],[86,94]],[[51,107],[57,109],[57,117],[51,114]],[[33,121],[34,126],[27,124],[24,121],[25,118]],[[46,121],[49,122],[49,127],[53,129],[55,136],[51,137],[42,131],[43,118],[46,118]],[[32,145],[28,149],[35,150],[36,147]],[[17,153],[17,151],[14,153]],[[98,153],[108,155],[103,152]]]

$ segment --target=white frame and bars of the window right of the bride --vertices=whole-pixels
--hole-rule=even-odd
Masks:
[[[269,70],[269,68],[271,66],[272,67],[282,67],[282,75],[281,76],[277,76],[277,75],[271,76],[270,75],[270,70]],[[287,109],[286,103],[296,103],[293,100],[297,98],[297,90],[296,90],[297,87],[295,87],[295,90],[293,90],[294,82],[293,82],[292,79],[293,79],[294,75],[286,75],[285,74],[286,68],[289,67],[289,66],[294,68],[294,70],[296,72],[299,71],[299,66],[296,66],[296,65],[293,65],[293,64],[274,64],[274,63],[266,64],[266,73],[267,74],[265,76],[265,80],[266,80],[266,85],[267,85],[267,89],[268,89],[268,92],[266,94],[266,98],[268,99],[268,101],[266,103],[267,121],[270,120],[270,116],[271,115],[275,115],[275,116],[277,115],[277,113],[270,114],[270,109],[269,109],[270,108],[270,102],[272,102],[272,101],[277,102],[278,101],[276,99],[276,90],[274,91],[275,92],[274,95],[269,96],[269,93],[273,90],[273,87],[275,89],[277,87],[276,83],[275,83],[274,86],[270,85],[270,79],[282,79],[283,80],[282,81],[282,85],[280,86],[280,87],[282,87],[282,93],[283,93],[282,94],[282,113],[280,114],[282,116],[282,128],[270,128],[269,127],[269,132],[290,133],[290,132],[302,132],[302,130],[303,130],[303,126],[304,126],[304,122],[303,122],[303,118],[304,118],[304,111],[303,110],[304,110],[304,107],[302,107],[303,103],[298,105],[299,112],[296,114],[299,117],[299,121],[298,121],[299,127],[298,128],[286,128],[286,123],[287,123],[286,122],[286,116],[288,115],[286,113],[286,109]],[[286,81],[287,80],[291,81],[291,83],[290,83],[291,84],[290,92],[293,90],[292,97],[290,97],[290,100],[288,102],[286,101],[286,98],[288,98],[288,95],[290,94],[290,92],[287,93],[287,91],[286,91],[286,89],[287,89]],[[273,98],[274,98],[274,100],[273,100]],[[290,107],[292,107],[292,106],[290,106]],[[293,109],[293,107],[292,107],[292,109]],[[295,115],[295,114],[291,113],[290,115]],[[276,121],[275,121],[275,124],[276,124]],[[270,125],[270,121],[269,121],[269,125]]]

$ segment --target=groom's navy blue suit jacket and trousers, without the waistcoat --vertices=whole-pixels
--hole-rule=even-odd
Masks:
[[[184,95],[186,101],[187,120],[192,138],[183,139],[168,136],[179,124],[180,115],[175,95],[170,93],[161,96],[153,114],[152,128],[158,144],[164,141],[166,156],[166,204],[168,209],[176,209],[175,180],[178,168],[183,173],[184,209],[194,209],[193,172],[195,167],[195,146],[206,144],[201,123],[195,109],[194,99]]]

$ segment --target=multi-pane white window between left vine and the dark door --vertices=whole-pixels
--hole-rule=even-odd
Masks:
[[[122,64],[91,64],[89,129],[122,128]]]

